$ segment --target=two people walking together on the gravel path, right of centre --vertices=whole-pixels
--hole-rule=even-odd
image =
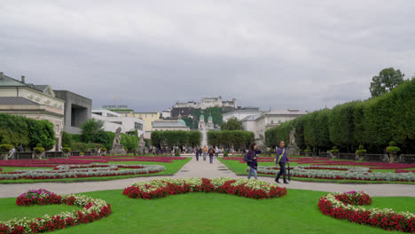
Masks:
[[[286,181],[286,163],[288,162],[288,157],[286,156],[286,143],[284,141],[279,142],[279,147],[276,153],[275,162],[279,166],[279,172],[277,177],[275,178],[275,182],[279,182],[279,177],[283,175],[284,183],[288,183]],[[247,152],[246,161],[247,166],[249,167],[249,174],[247,176],[248,179],[251,178],[251,175],[254,175],[255,180],[258,180],[257,168],[258,168],[258,154],[261,153],[258,150],[258,145],[252,143],[249,145],[249,151]]]

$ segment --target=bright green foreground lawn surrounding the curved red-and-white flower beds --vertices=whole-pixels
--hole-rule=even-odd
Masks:
[[[318,210],[321,191],[288,190],[279,199],[255,200],[218,193],[188,193],[164,199],[129,199],[121,190],[83,193],[111,204],[98,222],[54,233],[390,233],[333,219]],[[71,207],[19,207],[0,199],[0,220],[57,214]],[[415,198],[373,198],[376,207],[415,212]],[[24,213],[22,210],[26,210]]]

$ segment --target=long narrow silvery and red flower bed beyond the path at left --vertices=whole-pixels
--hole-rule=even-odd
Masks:
[[[119,168],[129,168],[119,170]],[[152,174],[166,170],[160,165],[106,165],[106,164],[88,164],[88,165],[61,165],[54,169],[36,169],[36,170],[16,170],[12,173],[0,174],[0,180],[17,180],[17,179],[63,179],[63,178],[85,178],[85,177],[103,177],[118,175],[139,175]]]

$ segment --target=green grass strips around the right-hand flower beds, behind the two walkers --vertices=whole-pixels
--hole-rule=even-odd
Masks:
[[[248,175],[247,164],[239,163],[238,160],[219,160],[231,171],[237,175]],[[297,163],[290,162],[290,166],[294,167]],[[308,164],[301,164],[301,166],[307,166]],[[275,166],[274,162],[258,162],[258,166]],[[375,170],[375,171],[391,171],[391,170]],[[392,170],[395,172],[395,170]],[[275,175],[264,175],[259,174],[260,176],[275,177]],[[415,184],[415,182],[385,182],[385,181],[356,181],[356,180],[326,180],[326,179],[314,179],[314,178],[301,178],[301,177],[291,177],[294,181],[303,181],[303,182],[320,182],[320,183],[403,183],[403,184]]]

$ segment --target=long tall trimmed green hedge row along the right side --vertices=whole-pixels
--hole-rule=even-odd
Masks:
[[[395,141],[405,153],[415,152],[415,79],[405,81],[378,98],[336,105],[330,110],[305,114],[265,132],[265,142],[275,147],[289,141],[295,127],[296,143],[304,149],[326,151],[334,145],[355,152],[364,144],[369,152],[382,152]]]

